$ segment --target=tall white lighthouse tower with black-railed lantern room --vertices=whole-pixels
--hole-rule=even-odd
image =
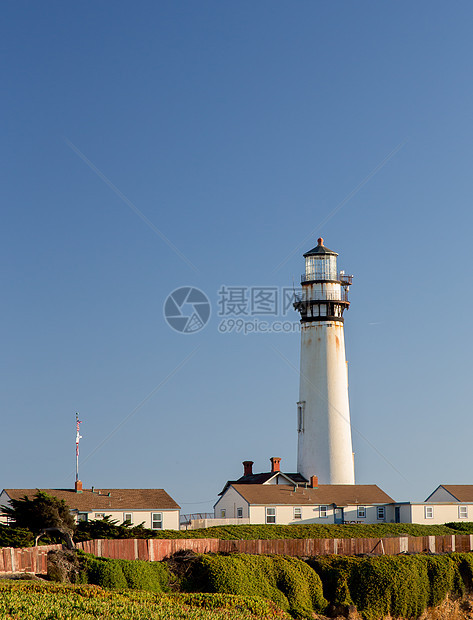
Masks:
[[[321,484],[355,484],[343,331],[352,276],[338,272],[337,256],[322,238],[304,254],[302,294],[294,303],[302,335],[297,467]]]

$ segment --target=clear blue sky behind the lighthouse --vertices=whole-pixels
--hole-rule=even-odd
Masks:
[[[299,335],[219,334],[217,291],[291,286],[319,235],[355,275],[357,481],[398,500],[473,483],[472,19],[4,3],[0,487],[73,484],[75,411],[87,487],[207,511],[244,459],[294,471]],[[163,319],[182,285],[214,306],[194,335]]]

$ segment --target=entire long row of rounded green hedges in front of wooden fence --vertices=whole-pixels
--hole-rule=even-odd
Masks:
[[[447,596],[473,591],[472,553],[317,556],[305,561],[239,553],[176,554],[167,562],[113,560],[81,552],[77,557],[83,582],[117,592],[163,593],[171,584],[201,595],[259,596],[301,619],[313,618],[314,613],[343,614],[350,605],[364,620],[389,614],[417,618]],[[203,600],[207,606],[215,603],[212,598]]]

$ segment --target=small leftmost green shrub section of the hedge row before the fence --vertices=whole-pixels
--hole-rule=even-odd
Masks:
[[[86,553],[77,554],[80,581],[104,588],[129,588],[149,592],[169,591],[171,575],[166,564],[142,560],[114,560],[97,558]]]

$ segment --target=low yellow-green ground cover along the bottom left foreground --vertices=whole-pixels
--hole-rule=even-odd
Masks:
[[[264,599],[222,594],[108,592],[96,586],[0,581],[5,620],[284,620]]]

